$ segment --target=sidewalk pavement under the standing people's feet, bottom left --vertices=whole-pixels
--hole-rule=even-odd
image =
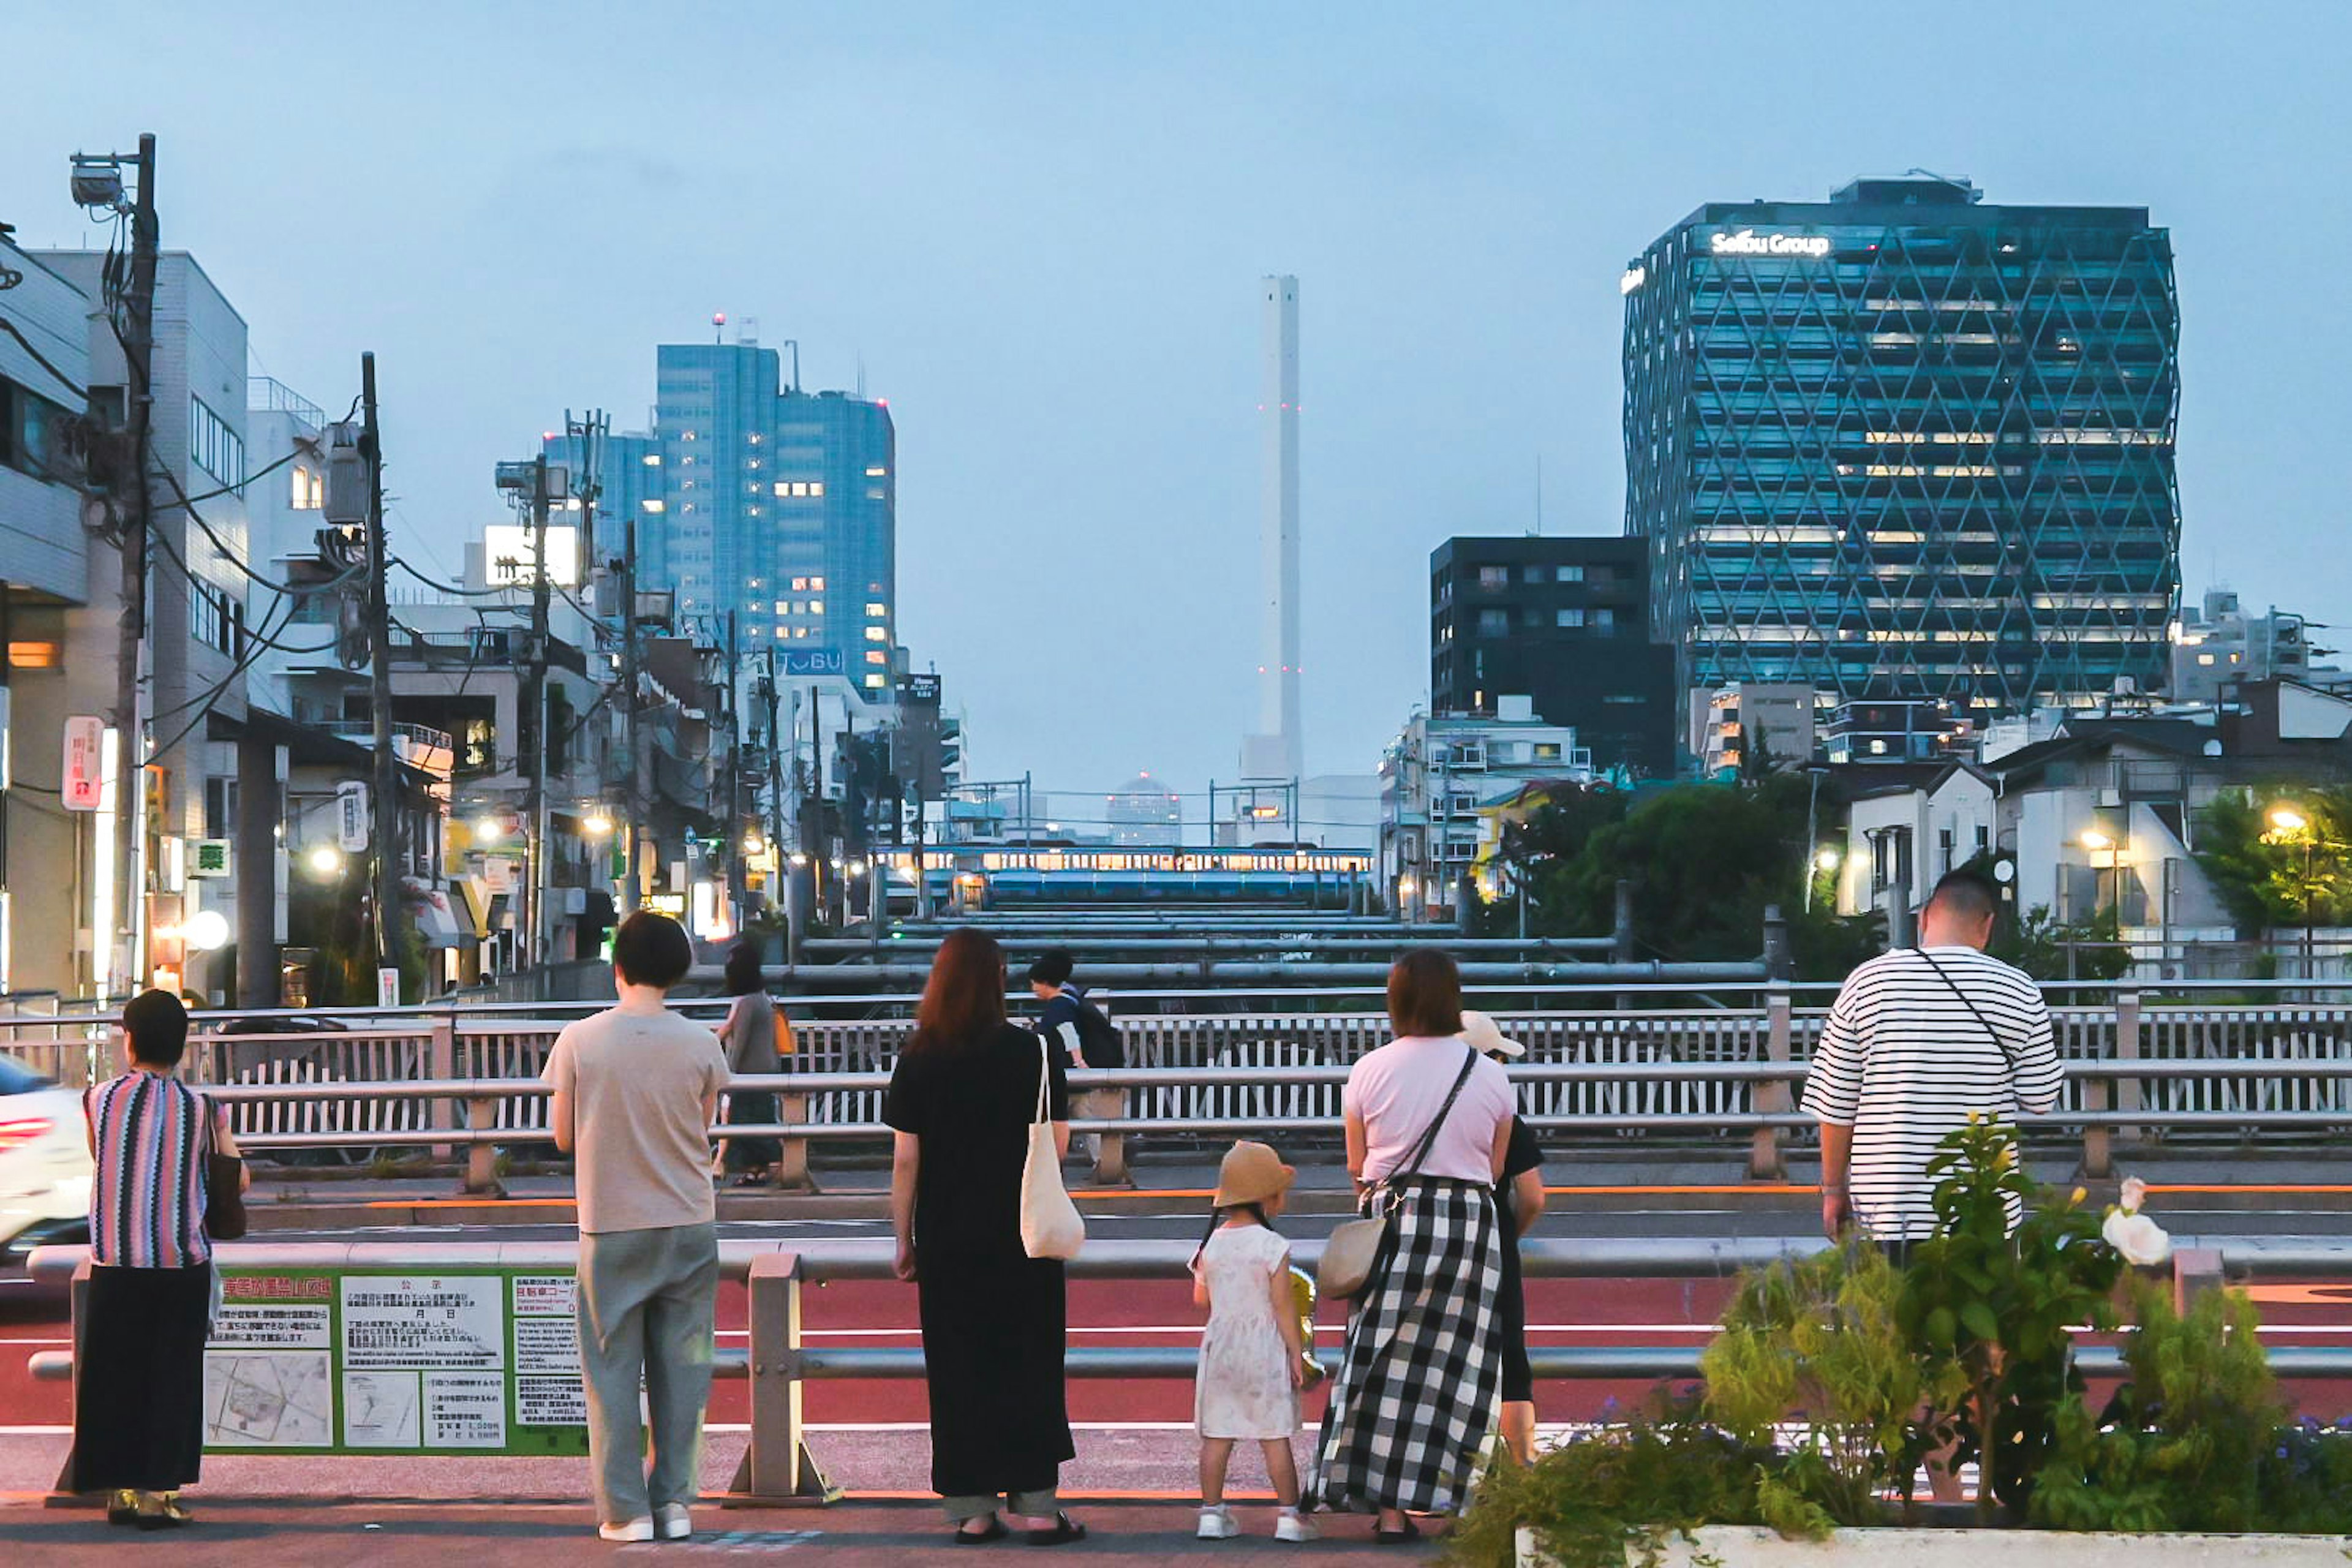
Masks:
[[[0,1556],[19,1563],[122,1561],[146,1547],[169,1554],[174,1568],[503,1568],[506,1563],[614,1561],[670,1563],[710,1556],[769,1556],[793,1552],[847,1568],[898,1568],[950,1552],[948,1526],[922,1502],[840,1502],[828,1509],[715,1509],[694,1512],[694,1537],[682,1542],[616,1547],[597,1540],[586,1505],[506,1502],[301,1502],[219,1500],[205,1505],[191,1493],[198,1523],[183,1530],[141,1535],[111,1528],[89,1509],[9,1507],[0,1502]],[[1058,1563],[1155,1563],[1162,1559],[1216,1559],[1228,1566],[1298,1563],[1395,1563],[1428,1561],[1442,1542],[1374,1547],[1371,1519],[1319,1519],[1327,1540],[1284,1547],[1272,1540],[1272,1509],[1240,1505],[1247,1535],[1225,1542],[1192,1537],[1190,1502],[1070,1505],[1087,1526],[1087,1540],[1056,1547]],[[1030,1547],[1009,1537],[988,1547],[997,1559],[1021,1559]]]

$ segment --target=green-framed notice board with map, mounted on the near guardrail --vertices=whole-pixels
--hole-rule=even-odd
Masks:
[[[205,1450],[588,1453],[572,1295],[548,1267],[226,1267]]]

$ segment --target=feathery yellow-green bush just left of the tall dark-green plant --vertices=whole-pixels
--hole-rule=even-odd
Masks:
[[[1877,1523],[1879,1490],[1910,1474],[1929,1368],[1898,1331],[1900,1305],[1903,1274],[1865,1241],[1740,1276],[1700,1359],[1705,1410],[1757,1448],[1790,1415],[1806,1425],[1780,1474],[1759,1479],[1776,1528]]]

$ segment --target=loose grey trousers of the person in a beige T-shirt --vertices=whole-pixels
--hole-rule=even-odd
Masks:
[[[583,1232],[579,1281],[597,1519],[628,1523],[666,1502],[694,1502],[720,1293],[717,1225]],[[654,1420],[652,1479],[640,1385]]]

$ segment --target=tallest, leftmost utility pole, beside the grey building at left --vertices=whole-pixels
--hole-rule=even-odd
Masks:
[[[120,165],[118,165],[120,167]],[[148,496],[148,437],[155,428],[155,136],[139,136],[139,195],[132,200],[132,284],[122,301],[125,409],[129,461],[115,475],[122,520],[122,618],[115,637],[115,931],[111,983],[101,992],[129,997],[139,985],[141,875],[139,849],[146,816],[146,736],[139,715],[139,675],[146,656],[148,534],[155,508]],[[120,200],[120,197],[118,197]],[[92,964],[96,969],[96,964]]]

